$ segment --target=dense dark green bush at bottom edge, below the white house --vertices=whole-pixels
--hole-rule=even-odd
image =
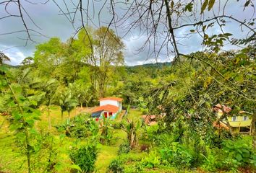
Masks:
[[[95,145],[85,145],[73,150],[69,157],[83,172],[93,172],[97,159],[97,148]]]

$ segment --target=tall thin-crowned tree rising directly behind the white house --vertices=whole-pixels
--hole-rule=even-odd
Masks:
[[[78,56],[82,56],[82,61],[90,64],[90,81],[94,91],[98,97],[104,97],[111,72],[115,66],[124,64],[124,43],[121,38],[115,35],[114,30],[101,27],[98,30],[90,29],[90,33],[81,30],[72,44],[77,48]]]

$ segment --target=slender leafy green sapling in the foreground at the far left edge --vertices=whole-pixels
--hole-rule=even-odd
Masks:
[[[35,121],[39,120],[40,111],[36,110],[38,98],[33,96],[24,97],[22,94],[22,88],[18,84],[14,84],[9,80],[9,71],[2,63],[0,66],[0,89],[1,92],[8,95],[5,100],[6,107],[8,107],[9,114],[11,115],[10,129],[14,131],[14,136],[17,141],[22,145],[22,153],[27,158],[27,172],[31,170],[31,154],[38,151],[33,143],[33,139],[37,136],[37,132],[34,128]]]

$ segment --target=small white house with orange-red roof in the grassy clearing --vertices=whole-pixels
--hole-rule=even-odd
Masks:
[[[103,116],[111,119],[116,118],[116,115],[121,112],[122,100],[123,99],[117,97],[106,97],[100,99],[100,106],[94,108],[92,117],[95,117],[96,120]]]

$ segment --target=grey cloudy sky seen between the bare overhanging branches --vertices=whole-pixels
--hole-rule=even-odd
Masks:
[[[1,1],[2,0],[0,0],[0,3]],[[56,0],[59,7],[66,10],[65,12],[67,12],[64,1],[65,0]],[[26,41],[24,40],[26,38],[26,33],[17,32],[20,30],[25,30],[25,27],[22,24],[22,20],[20,19],[20,17],[7,17],[9,14],[19,14],[17,4],[8,4],[6,9],[9,14],[5,10],[5,4],[0,4],[0,51],[4,52],[7,56],[9,56],[9,58],[11,58],[11,63],[13,65],[20,64],[20,62],[27,56],[33,56],[33,52],[35,51],[35,45],[46,42],[49,37],[60,37],[62,41],[66,41],[69,37],[72,37],[72,35],[74,35],[74,28],[76,28],[81,23],[80,18],[77,17],[75,19],[74,27],[72,27],[68,19],[69,17],[61,15],[59,7],[56,5],[56,3],[54,3],[53,0],[48,1],[48,3],[46,4],[43,4],[43,2],[46,2],[46,0],[20,0],[20,2],[22,3],[22,6],[26,10],[27,14],[29,14],[31,17],[30,19],[27,14],[23,12],[27,27],[35,30],[36,32],[40,32],[40,34],[44,36],[39,36],[35,32],[31,32],[35,43],[29,41],[26,44]],[[33,4],[30,2],[33,2]],[[72,10],[74,10],[74,4],[72,4],[72,1],[66,0],[65,2],[67,3],[69,11],[72,12]],[[77,4],[77,1],[73,0],[73,2]],[[89,25],[93,27],[98,27],[98,25],[107,24],[111,20],[111,14],[109,14],[109,4],[107,3],[102,9],[101,17],[99,19],[98,12],[101,10],[101,6],[103,6],[103,1],[99,0],[94,2],[94,8],[92,8],[92,4],[89,4],[90,10],[88,11],[88,14],[91,19],[91,21],[89,21]],[[226,5],[226,14],[232,15],[232,17],[236,17],[237,19],[241,20],[250,19],[251,17],[253,17],[253,9],[247,8],[243,10],[243,4],[244,1],[237,2],[236,0],[229,0],[228,4]],[[86,5],[87,4],[84,4],[84,6]],[[124,4],[121,4],[120,6],[115,6],[116,12],[119,17],[122,13],[121,9],[124,9],[124,7]],[[215,6],[215,8],[218,7]],[[212,14],[208,14],[208,17],[211,17],[211,15]],[[86,19],[85,14],[84,17]],[[192,28],[176,30],[175,35],[177,37],[184,37],[184,35],[187,35],[187,33],[189,33],[189,30],[191,29]],[[123,36],[124,33],[127,32],[127,29],[125,27],[119,27],[116,31],[120,36]],[[245,37],[248,30],[243,28],[242,32],[236,22],[229,22],[227,24],[227,27],[224,28],[224,31],[231,32],[234,37]],[[219,27],[214,26],[212,29],[210,29],[209,32],[220,33],[221,30],[219,29]],[[126,37],[124,37],[123,41],[126,46],[124,50],[124,56],[125,63],[128,66],[155,62],[155,58],[153,57],[153,55],[149,54],[149,52],[152,52],[152,46],[145,48],[145,50],[143,51],[137,51],[143,45],[143,43],[145,43],[145,40],[147,40],[147,38],[147,35],[142,34],[138,28],[134,28],[129,35],[126,35]],[[202,39],[199,35],[191,35],[190,37],[179,40],[179,50],[181,53],[190,53],[193,51],[202,50],[201,42]],[[224,47],[224,49],[236,49],[236,47],[228,44]],[[164,53],[165,51],[166,49],[162,50],[163,53],[161,54],[161,56],[158,57],[158,61],[171,61],[172,56],[167,56],[166,53]]]

